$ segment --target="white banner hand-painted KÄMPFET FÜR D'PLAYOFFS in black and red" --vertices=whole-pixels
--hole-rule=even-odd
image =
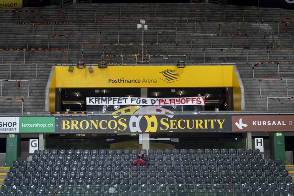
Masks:
[[[205,105],[204,96],[180,98],[86,97],[87,105],[184,106]]]

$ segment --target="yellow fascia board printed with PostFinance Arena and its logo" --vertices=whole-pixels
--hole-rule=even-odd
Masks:
[[[57,66],[57,88],[142,88],[142,87],[239,87],[233,66],[109,66],[68,72]]]

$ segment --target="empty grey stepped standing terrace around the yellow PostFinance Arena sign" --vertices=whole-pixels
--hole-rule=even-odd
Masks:
[[[0,48],[4,72],[0,79],[30,80],[30,96],[25,84],[3,83],[3,97],[24,99],[25,112],[45,110],[45,87],[53,64],[136,63],[141,53],[142,33],[136,29],[146,21],[144,50],[150,64],[235,63],[244,86],[245,110],[289,112],[293,102],[285,97],[285,81],[261,82],[260,78],[294,78],[290,62],[294,58],[294,25],[290,10],[221,6],[215,4],[104,4],[23,8],[2,12]],[[163,59],[168,55],[168,59]],[[12,67],[9,78],[9,64]],[[19,65],[26,64],[26,65]],[[37,64],[37,80],[34,66]],[[30,68],[31,67],[31,68]],[[29,70],[29,71],[28,71]],[[292,81],[288,96],[292,96]],[[1,112],[20,112],[19,101],[2,101]],[[10,107],[13,106],[13,107]]]

